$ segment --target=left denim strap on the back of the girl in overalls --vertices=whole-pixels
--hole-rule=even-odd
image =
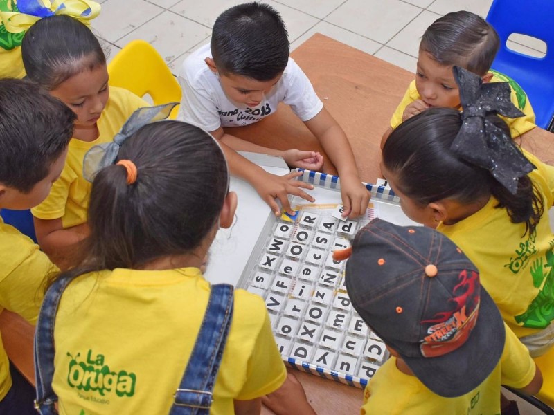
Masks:
[[[54,378],[54,322],[62,293],[71,278],[57,279],[48,288],[40,307],[35,329],[35,382],[37,399],[35,409],[42,415],[57,414],[54,404],[57,396],[52,390]]]

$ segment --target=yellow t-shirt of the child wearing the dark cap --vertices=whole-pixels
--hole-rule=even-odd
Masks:
[[[478,322],[479,324],[479,322]],[[390,358],[366,386],[360,414],[379,415],[499,415],[500,385],[526,387],[535,376],[535,362],[506,325],[506,343],[500,361],[481,385],[457,398],[431,392],[415,376],[402,373]],[[483,353],[487,353],[483,350]]]

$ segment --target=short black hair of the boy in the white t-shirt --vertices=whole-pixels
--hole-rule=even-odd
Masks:
[[[289,39],[278,12],[244,3],[222,12],[213,25],[211,52],[217,71],[269,81],[285,71]]]

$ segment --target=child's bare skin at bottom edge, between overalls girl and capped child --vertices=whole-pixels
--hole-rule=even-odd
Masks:
[[[290,372],[279,389],[273,394],[262,396],[262,403],[276,415],[316,415],[307,401],[301,382]]]

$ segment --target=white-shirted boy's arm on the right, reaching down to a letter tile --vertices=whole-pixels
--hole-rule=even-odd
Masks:
[[[370,194],[361,184],[354,154],[352,154],[352,148],[343,129],[325,108],[304,123],[318,138],[325,153],[337,167],[341,178],[343,216],[354,218],[364,214],[368,207]]]

